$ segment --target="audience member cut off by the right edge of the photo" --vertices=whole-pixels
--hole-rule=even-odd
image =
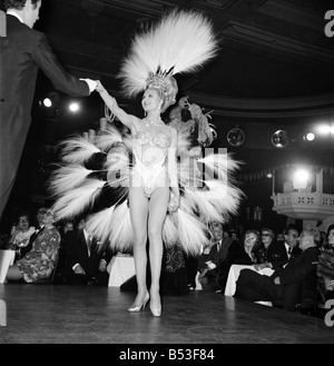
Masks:
[[[334,298],[334,225],[327,229],[326,241],[327,245],[322,248],[317,265],[318,289],[324,300]]]

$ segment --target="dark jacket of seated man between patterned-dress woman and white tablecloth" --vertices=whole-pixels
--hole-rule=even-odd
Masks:
[[[108,248],[105,251],[99,250],[96,239],[92,240],[89,256],[82,229],[68,231],[63,237],[62,247],[66,255],[67,277],[69,280],[75,274],[72,267],[76,264],[80,264],[87,279],[90,280],[97,276],[100,260],[105,259],[108,264],[112,257],[112,253]]]

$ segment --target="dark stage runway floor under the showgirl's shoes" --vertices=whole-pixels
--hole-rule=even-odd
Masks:
[[[165,296],[160,318],[148,307],[129,314],[134,296],[117,287],[0,285],[0,344],[334,344],[323,319],[220,294]]]

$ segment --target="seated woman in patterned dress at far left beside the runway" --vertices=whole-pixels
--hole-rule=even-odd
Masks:
[[[60,246],[60,233],[53,226],[53,212],[50,209],[47,210],[43,225],[45,228],[36,237],[32,249],[9,267],[9,281],[35,283],[51,275]]]

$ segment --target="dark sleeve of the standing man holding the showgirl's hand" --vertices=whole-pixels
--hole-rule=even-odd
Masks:
[[[89,96],[87,82],[68,73],[52,52],[46,36],[40,32],[38,32],[38,36],[32,58],[38,67],[51,80],[55,88],[73,97]]]

